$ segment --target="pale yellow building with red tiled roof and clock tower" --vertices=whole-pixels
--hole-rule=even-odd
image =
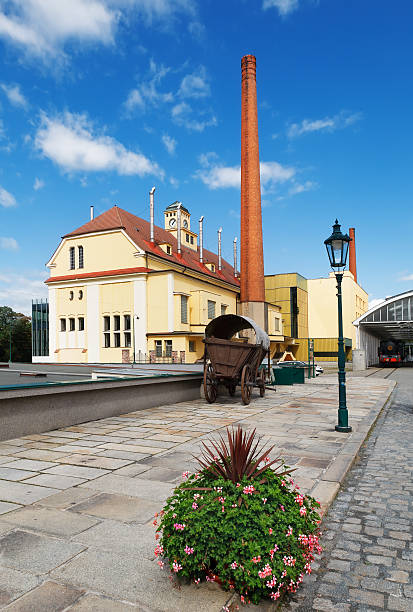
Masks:
[[[149,222],[114,206],[62,238],[47,264],[49,361],[202,357],[208,322],[237,312],[238,275],[200,250],[186,208],[175,202],[164,217],[152,234]],[[274,343],[283,338],[280,308],[267,305],[267,313]]]

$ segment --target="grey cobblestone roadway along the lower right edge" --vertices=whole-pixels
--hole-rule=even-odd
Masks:
[[[413,370],[362,447],[323,523],[320,566],[282,610],[413,611]]]

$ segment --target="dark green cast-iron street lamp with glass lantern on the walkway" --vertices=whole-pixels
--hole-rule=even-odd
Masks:
[[[343,234],[340,229],[340,224],[336,219],[333,225],[333,233],[327,240],[324,240],[326,245],[327,255],[330,260],[330,265],[334,270],[337,280],[337,302],[338,302],[338,425],[336,431],[349,433],[351,427],[348,424],[348,410],[346,403],[346,355],[344,352],[343,339],[343,307],[341,299],[341,282],[343,280],[343,272],[347,263],[348,246],[351,238],[347,234]]]

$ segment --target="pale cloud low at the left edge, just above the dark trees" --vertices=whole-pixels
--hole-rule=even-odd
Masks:
[[[0,305],[31,315],[32,299],[47,297],[48,290],[44,284],[47,277],[47,272],[39,270],[28,270],[22,274],[0,270]]]

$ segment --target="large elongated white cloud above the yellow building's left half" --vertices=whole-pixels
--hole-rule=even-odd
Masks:
[[[66,172],[104,172],[163,176],[158,164],[142,153],[129,151],[105,134],[96,134],[85,115],[69,112],[54,118],[42,116],[35,147]]]

